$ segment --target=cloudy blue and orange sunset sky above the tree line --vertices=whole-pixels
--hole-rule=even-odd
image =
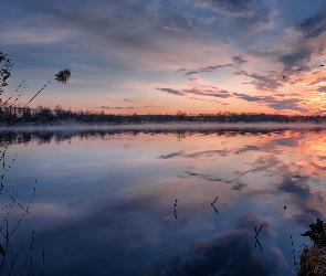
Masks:
[[[326,114],[325,11],[325,0],[2,0],[3,99],[25,105],[50,81],[30,107]]]

